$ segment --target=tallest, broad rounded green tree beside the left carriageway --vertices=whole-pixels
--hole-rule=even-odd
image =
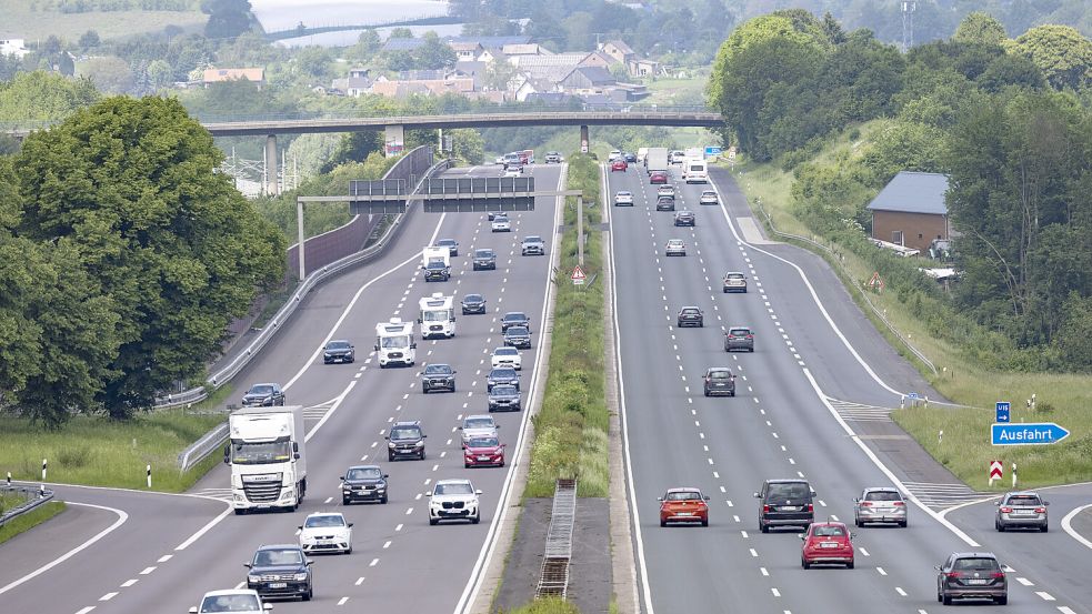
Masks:
[[[110,98],[31,134],[16,158],[20,235],[61,240],[113,301],[97,400],[113,417],[200,376],[224,328],[282,279],[284,239],[216,172],[223,154],[174,99]]]

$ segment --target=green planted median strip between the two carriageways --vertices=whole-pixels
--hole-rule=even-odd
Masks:
[[[601,217],[600,170],[599,164],[588,155],[572,154],[568,160],[568,189],[583,192],[584,232],[588,238],[583,270],[590,283],[577,286],[569,279],[577,264],[575,199],[570,198],[564,212],[560,270],[553,280],[557,298],[550,375],[542,410],[534,416],[535,435],[524,497],[553,496],[559,477],[577,477],[578,496],[608,495],[607,433],[610,416],[603,371],[603,255],[598,230]]]

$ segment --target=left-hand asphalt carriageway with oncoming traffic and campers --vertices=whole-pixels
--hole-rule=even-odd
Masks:
[[[560,188],[561,167],[530,169],[540,185]],[[491,175],[498,170],[448,171],[452,175],[468,172]],[[2,610],[42,614],[184,612],[206,591],[243,583],[247,570],[242,564],[258,545],[293,543],[297,525],[307,514],[335,510],[354,523],[352,555],[314,556],[314,601],[281,603],[278,612],[334,612],[339,606],[353,611],[461,612],[495,532],[498,509],[509,491],[512,455],[525,432],[529,412],[495,414],[501,441],[509,445],[509,463],[503,469],[463,469],[455,427],[463,415],[485,413],[489,355],[503,344],[498,320],[505,311],[525,311],[531,318],[532,349],[523,350],[524,407],[540,395],[533,382],[543,358],[539,349],[558,215],[560,208],[552,199],[543,199],[535,211],[511,215],[511,233],[491,233],[484,213],[418,211],[382,258],[322,285],[305,299],[285,329],[234,382],[240,395],[250,383],[280,382],[288,404],[307,407],[309,485],[298,512],[231,514],[226,504],[229,471],[223,465],[206,475],[189,495],[59,486],[66,500],[117,512],[78,506],[87,522],[66,523],[60,531],[51,531],[56,543],[37,548],[37,553],[31,540],[13,541],[11,550],[4,551],[0,587],[117,526],[69,558],[0,593]],[[525,234],[543,236],[547,256],[520,255],[519,242]],[[452,279],[425,284],[419,271],[420,250],[442,238],[460,243],[460,253],[452,259]],[[473,271],[469,258],[473,248],[494,249],[498,270]],[[457,310],[454,339],[418,339],[414,368],[380,370],[370,358],[375,323],[391,316],[415,321],[418,300],[432,292],[454,294],[457,300],[467,293],[483,293],[490,314],[463,316]],[[320,349],[328,339],[351,340],[357,346],[357,362],[323,365]],[[424,362],[454,366],[459,392],[423,395],[418,374]],[[397,420],[422,422],[429,435],[425,461],[387,461],[383,435]],[[377,463],[390,474],[389,504],[341,505],[339,476],[345,467],[362,463]],[[434,480],[463,476],[484,493],[482,523],[429,526],[423,493]],[[9,552],[20,553],[26,562],[9,567]],[[59,586],[63,590],[58,591]]]

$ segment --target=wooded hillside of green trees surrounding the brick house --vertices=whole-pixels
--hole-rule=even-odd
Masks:
[[[980,358],[1086,371],[1090,53],[1092,41],[1070,28],[1010,40],[1001,23],[974,13],[952,39],[902,54],[829,16],[782,11],[732,33],[709,97],[749,157],[794,170],[793,200],[809,224],[850,244],[868,245],[865,207],[895,173],[946,173],[963,276],[951,295],[913,271],[892,285],[936,305],[938,334],[989,346]],[[812,160],[854,125],[852,152]],[[979,332],[969,336],[968,326]]]

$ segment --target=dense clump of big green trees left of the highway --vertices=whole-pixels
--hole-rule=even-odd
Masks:
[[[200,378],[285,241],[177,100],[109,98],[0,157],[0,391],[56,426]]]

